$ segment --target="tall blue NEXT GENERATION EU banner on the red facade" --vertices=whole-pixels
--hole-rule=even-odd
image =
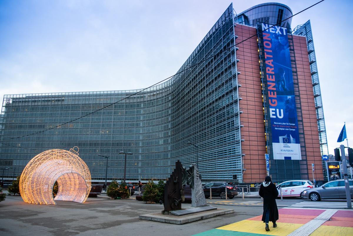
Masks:
[[[301,160],[287,28],[262,24],[273,158]]]

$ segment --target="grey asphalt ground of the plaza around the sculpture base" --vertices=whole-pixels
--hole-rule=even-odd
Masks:
[[[0,202],[0,235],[190,236],[262,214],[260,199],[225,201],[219,198],[212,201],[218,201],[214,205],[218,208],[234,209],[235,212],[174,225],[138,219],[140,214],[161,212],[163,205],[136,201],[134,196],[120,200],[88,198],[85,203],[57,201],[58,205],[34,205],[25,203],[20,196],[6,196],[6,200]],[[285,201],[277,200],[279,208],[301,200]],[[187,206],[191,204],[183,203],[183,207]]]

